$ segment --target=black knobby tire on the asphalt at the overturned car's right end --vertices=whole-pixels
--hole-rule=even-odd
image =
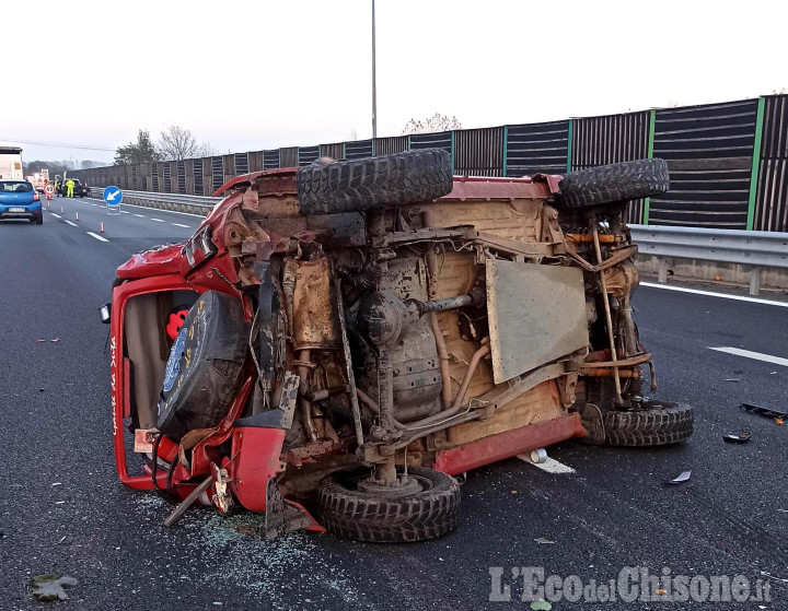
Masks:
[[[652,401],[647,409],[604,413],[605,440],[611,446],[661,446],[685,440],[693,432],[693,409]]]

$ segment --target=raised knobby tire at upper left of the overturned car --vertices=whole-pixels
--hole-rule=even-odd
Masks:
[[[301,214],[333,214],[429,201],[452,190],[451,156],[440,149],[314,163],[296,175]]]

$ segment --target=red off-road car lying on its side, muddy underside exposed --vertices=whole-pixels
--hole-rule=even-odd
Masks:
[[[417,541],[452,477],[571,437],[660,445],[692,409],[644,396],[628,200],[661,160],[453,177],[412,151],[239,176],[185,244],[117,270],[123,483],[266,516],[266,532]],[[109,314],[111,312],[111,314]]]

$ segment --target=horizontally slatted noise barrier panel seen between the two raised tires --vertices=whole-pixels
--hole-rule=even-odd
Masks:
[[[565,174],[569,121],[507,126],[506,175]]]

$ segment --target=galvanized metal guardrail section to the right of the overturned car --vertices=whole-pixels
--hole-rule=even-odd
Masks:
[[[629,225],[641,255],[659,259],[659,282],[671,258],[751,266],[750,294],[761,291],[761,269],[788,269],[788,233]]]

